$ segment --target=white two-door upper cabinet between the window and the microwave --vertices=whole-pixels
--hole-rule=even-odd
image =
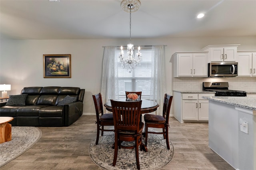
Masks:
[[[173,57],[174,77],[207,77],[207,51],[176,52]]]

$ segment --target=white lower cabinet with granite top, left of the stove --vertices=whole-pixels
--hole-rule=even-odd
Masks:
[[[214,93],[174,92],[174,117],[183,122],[208,121],[209,101],[202,96],[215,96]]]

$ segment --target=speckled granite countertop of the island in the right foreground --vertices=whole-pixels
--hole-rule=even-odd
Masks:
[[[242,108],[246,108],[246,109],[250,109],[250,110],[256,110],[256,97],[222,97],[222,96],[208,97],[208,96],[203,96],[202,98],[208,99],[211,101],[220,102],[220,103],[225,103],[228,105],[242,107]]]

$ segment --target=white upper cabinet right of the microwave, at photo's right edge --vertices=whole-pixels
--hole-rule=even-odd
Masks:
[[[256,50],[237,51],[238,76],[256,76]]]

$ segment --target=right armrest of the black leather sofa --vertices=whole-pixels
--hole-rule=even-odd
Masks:
[[[83,113],[84,104],[81,101],[67,103],[63,106],[64,126],[74,123]]]

